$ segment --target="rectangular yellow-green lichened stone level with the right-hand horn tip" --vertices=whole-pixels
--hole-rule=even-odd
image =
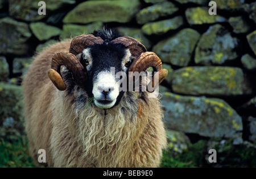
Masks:
[[[242,95],[245,79],[240,68],[189,66],[172,73],[172,89],[188,95]]]

